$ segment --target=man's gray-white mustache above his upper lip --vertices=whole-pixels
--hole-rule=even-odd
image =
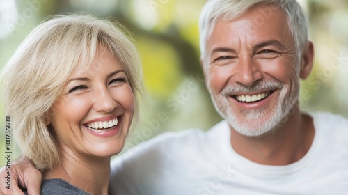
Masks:
[[[223,88],[221,95],[228,96],[235,93],[255,93],[265,90],[275,90],[283,88],[284,84],[276,81],[258,81],[252,86],[244,86],[243,84],[228,85]]]

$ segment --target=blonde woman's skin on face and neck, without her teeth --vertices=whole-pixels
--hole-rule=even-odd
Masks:
[[[57,137],[61,163],[44,179],[61,178],[90,194],[107,194],[112,155],[120,153],[132,122],[134,96],[120,62],[104,47],[88,68],[79,65],[50,110],[46,123]],[[118,118],[107,132],[88,123]],[[112,133],[110,133],[112,132]]]

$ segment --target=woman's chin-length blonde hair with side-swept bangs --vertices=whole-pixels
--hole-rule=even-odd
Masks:
[[[90,15],[57,15],[25,38],[1,71],[6,114],[22,154],[40,169],[59,162],[55,137],[45,125],[49,108],[78,64],[90,65],[100,45],[125,69],[139,116],[143,79],[139,54],[120,25]]]

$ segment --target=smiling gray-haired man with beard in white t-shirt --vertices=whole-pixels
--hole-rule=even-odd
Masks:
[[[225,120],[130,150],[113,161],[109,193],[346,194],[348,120],[299,110],[307,26],[295,0],[208,1],[201,61]]]

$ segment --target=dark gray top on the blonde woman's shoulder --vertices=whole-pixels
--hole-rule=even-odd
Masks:
[[[23,191],[24,194],[28,194],[26,190]],[[49,179],[42,180],[41,183],[41,195],[89,195],[84,190],[74,187],[65,180],[62,179]]]

